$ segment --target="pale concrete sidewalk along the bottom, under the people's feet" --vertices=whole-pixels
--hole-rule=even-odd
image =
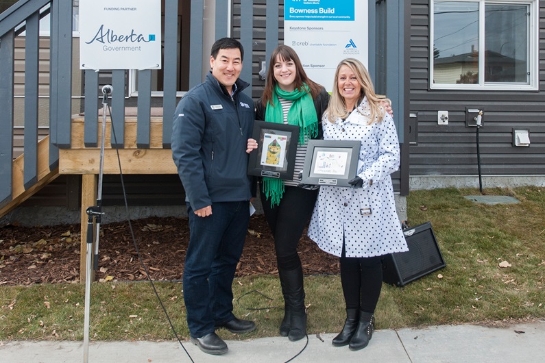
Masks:
[[[424,329],[375,331],[361,351],[331,345],[335,334],[308,336],[308,346],[292,362],[545,362],[545,320],[509,327],[440,325]],[[261,338],[227,341],[228,353],[202,353],[191,342],[184,347],[194,362],[286,362],[306,339]],[[89,345],[89,362],[191,362],[178,342],[96,342]],[[69,341],[0,342],[0,362],[82,362],[83,343]]]

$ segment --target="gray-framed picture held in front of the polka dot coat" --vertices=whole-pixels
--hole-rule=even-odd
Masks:
[[[303,166],[303,184],[350,186],[356,177],[360,142],[309,140]]]

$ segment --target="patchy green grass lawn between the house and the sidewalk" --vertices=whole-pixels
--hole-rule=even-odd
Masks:
[[[481,323],[545,317],[545,188],[485,189],[518,204],[468,201],[477,189],[411,192],[410,225],[430,221],[446,267],[402,288],[383,286],[376,311],[378,329]],[[271,251],[273,253],[273,251]],[[0,271],[1,273],[1,271]],[[173,327],[187,338],[182,284],[156,283]],[[278,277],[235,279],[234,313],[258,329],[223,338],[278,335],[283,301]],[[339,276],[305,277],[308,332],[333,333],[344,321]],[[81,340],[82,284],[0,287],[0,340]],[[173,339],[169,321],[147,282],[95,283],[91,289],[90,338]]]

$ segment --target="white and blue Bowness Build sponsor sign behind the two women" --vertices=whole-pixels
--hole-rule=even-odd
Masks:
[[[341,60],[356,58],[367,67],[368,6],[363,0],[284,1],[284,44],[298,53],[306,75],[328,92]]]

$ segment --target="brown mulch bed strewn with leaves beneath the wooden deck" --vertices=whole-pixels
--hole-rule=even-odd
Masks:
[[[189,242],[186,218],[132,221],[136,246],[150,277],[178,281]],[[338,258],[321,251],[307,236],[299,243],[304,273],[339,273]],[[252,216],[237,276],[276,274],[274,241],[263,215]],[[101,225],[97,279],[146,279],[127,222]],[[0,286],[80,280],[80,225],[0,227]]]

